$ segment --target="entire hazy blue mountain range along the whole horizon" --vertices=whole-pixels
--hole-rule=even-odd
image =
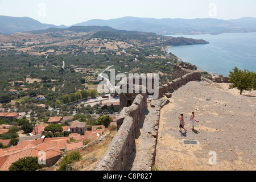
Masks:
[[[74,26],[109,26],[116,30],[154,32],[160,35],[184,34],[222,34],[230,32],[255,32],[256,18],[245,17],[240,19],[222,20],[215,18],[138,18],[125,16],[109,20],[91,19],[76,23],[72,26],[55,26],[54,24],[40,23],[29,17],[13,17],[0,15],[0,34],[14,34],[48,28],[69,28]]]

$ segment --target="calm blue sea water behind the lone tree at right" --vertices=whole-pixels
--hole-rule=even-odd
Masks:
[[[223,76],[228,76],[234,67],[256,72],[256,32],[171,36],[203,39],[209,42],[168,48],[168,52],[204,71]]]

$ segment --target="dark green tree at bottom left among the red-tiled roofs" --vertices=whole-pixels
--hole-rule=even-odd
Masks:
[[[42,168],[38,163],[38,157],[25,157],[17,160],[9,167],[9,171],[36,171]]]

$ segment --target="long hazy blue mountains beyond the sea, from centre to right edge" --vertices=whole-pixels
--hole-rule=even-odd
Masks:
[[[255,19],[256,18],[246,19],[244,22],[244,19],[229,21],[213,18],[155,19],[126,16],[123,18],[109,20],[92,19],[86,22],[77,23],[74,26],[110,26],[120,30],[154,32],[161,35],[221,34],[256,31],[255,27],[248,26],[249,24],[253,24]],[[243,24],[237,22],[243,22]]]

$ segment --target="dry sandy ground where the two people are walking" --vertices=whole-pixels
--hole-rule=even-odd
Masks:
[[[191,81],[172,93],[160,113],[155,159],[160,171],[255,171],[256,91],[241,96],[228,86]],[[192,111],[199,120],[195,130],[189,121]],[[180,133],[181,113],[187,133]],[[198,140],[199,145],[184,144],[183,139]]]

